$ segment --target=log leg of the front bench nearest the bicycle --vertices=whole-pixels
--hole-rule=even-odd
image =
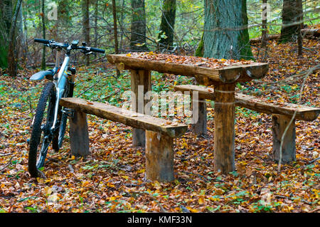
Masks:
[[[90,154],[89,132],[87,131],[87,115],[75,110],[70,122],[70,150],[74,156],[85,157]]]

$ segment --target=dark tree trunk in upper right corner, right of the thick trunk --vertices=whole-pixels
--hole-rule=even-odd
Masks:
[[[282,43],[294,40],[294,36],[297,34],[297,24],[294,24],[296,15],[296,0],[284,0],[282,6],[282,28],[280,38]]]

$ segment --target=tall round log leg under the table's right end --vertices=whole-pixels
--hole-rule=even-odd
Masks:
[[[235,171],[235,83],[215,85],[215,171]]]

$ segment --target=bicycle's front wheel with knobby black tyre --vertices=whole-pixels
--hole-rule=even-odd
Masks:
[[[55,112],[55,85],[46,83],[33,118],[33,127],[29,143],[28,171],[32,177],[38,176],[38,169],[43,167],[48,148],[53,139],[51,127]]]

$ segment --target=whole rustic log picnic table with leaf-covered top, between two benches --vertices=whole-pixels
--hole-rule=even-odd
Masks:
[[[267,63],[205,68],[199,65],[170,63],[165,60],[135,58],[125,54],[110,54],[107,60],[118,69],[130,70],[131,88],[136,94],[135,100],[132,100],[132,107],[134,111],[140,113],[144,113],[144,105],[139,105],[139,102],[146,100],[144,97],[138,97],[138,89],[143,88],[143,94],[151,90],[151,70],[190,76],[196,78],[201,85],[214,85],[215,171],[222,171],[224,174],[235,171],[235,83],[263,78],[268,70]],[[144,132],[134,129],[132,139],[134,146],[143,146]]]

